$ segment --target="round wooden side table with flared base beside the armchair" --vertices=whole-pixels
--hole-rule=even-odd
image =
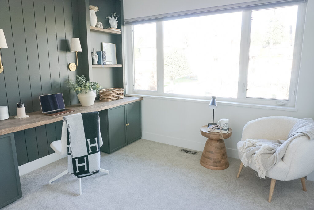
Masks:
[[[231,136],[232,129],[223,133],[224,138]],[[207,131],[207,126],[201,127],[201,134],[207,137],[203,154],[199,163],[205,168],[213,170],[224,170],[229,167],[225,142],[220,139],[220,133]]]

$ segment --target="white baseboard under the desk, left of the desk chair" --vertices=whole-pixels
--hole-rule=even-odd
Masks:
[[[47,155],[45,157],[42,157],[40,159],[34,160],[32,162],[23,164],[19,166],[19,175],[27,174],[28,172],[31,172],[33,170],[39,169],[47,164],[53,163],[57,160],[60,160],[66,156],[61,156],[58,153],[52,153],[50,155]]]

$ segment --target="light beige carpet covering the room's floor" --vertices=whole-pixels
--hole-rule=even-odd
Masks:
[[[197,155],[179,147],[140,139],[114,153],[101,153],[101,168],[109,175],[78,179],[65,175],[48,181],[67,167],[58,160],[21,176],[23,197],[3,209],[313,209],[314,183],[277,181],[273,201],[267,202],[270,179],[258,178],[240,160],[229,158],[229,168],[209,170]]]

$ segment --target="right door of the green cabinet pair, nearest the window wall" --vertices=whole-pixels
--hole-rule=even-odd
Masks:
[[[132,143],[142,136],[141,103],[140,101],[127,104],[127,143]]]

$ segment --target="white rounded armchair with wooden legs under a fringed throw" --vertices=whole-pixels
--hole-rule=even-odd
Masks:
[[[241,141],[237,143],[239,158],[243,157],[239,148],[246,139],[286,140],[291,128],[298,120],[293,117],[275,116],[249,121],[243,128]],[[268,202],[271,202],[276,180],[288,181],[300,178],[303,190],[306,191],[305,176],[314,170],[313,150],[314,140],[310,141],[305,136],[297,137],[289,144],[284,157],[266,172],[266,176],[272,179]],[[256,170],[254,157],[247,166]],[[237,178],[242,168],[243,163],[240,165]]]

